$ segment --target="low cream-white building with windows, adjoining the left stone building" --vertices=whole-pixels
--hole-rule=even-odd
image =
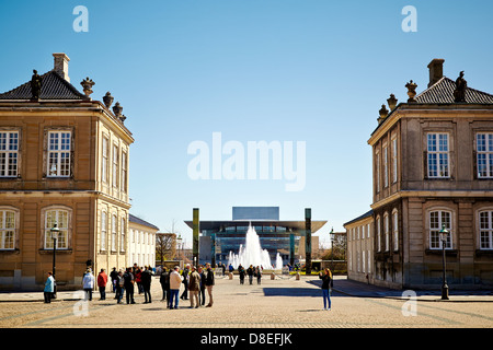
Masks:
[[[156,234],[159,228],[133,214],[129,214],[128,219],[127,265],[153,267],[156,265]]]

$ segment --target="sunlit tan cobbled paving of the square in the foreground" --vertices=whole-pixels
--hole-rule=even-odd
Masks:
[[[158,279],[152,282],[153,302],[116,304],[106,301],[84,304],[74,292],[59,292],[51,304],[43,293],[0,293],[0,328],[492,328],[491,292],[450,292],[449,301],[439,293],[417,293],[401,298],[391,291],[336,277],[332,310],[322,310],[317,278],[271,280],[240,285],[233,280],[216,279],[213,307],[167,310],[161,302]],[[84,306],[87,314],[84,315]]]

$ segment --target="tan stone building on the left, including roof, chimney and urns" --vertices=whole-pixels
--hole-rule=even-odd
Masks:
[[[1,289],[43,288],[55,224],[59,289],[80,288],[87,266],[126,265],[134,138],[119,103],[93,101],[89,78],[79,92],[67,55],[53,56],[53,70],[0,94]]]

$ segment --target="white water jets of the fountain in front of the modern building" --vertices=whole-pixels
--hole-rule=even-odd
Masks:
[[[271,257],[267,249],[262,249],[260,244],[260,237],[256,234],[255,229],[251,225],[246,231],[245,244],[240,245],[239,254],[229,252],[228,266],[238,269],[238,266],[242,265],[248,268],[250,265],[262,266],[264,270],[280,270],[283,268],[283,258],[277,253],[275,265],[272,265]]]

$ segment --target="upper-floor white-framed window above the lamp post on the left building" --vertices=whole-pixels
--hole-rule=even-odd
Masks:
[[[48,132],[48,176],[70,176],[70,131]]]

